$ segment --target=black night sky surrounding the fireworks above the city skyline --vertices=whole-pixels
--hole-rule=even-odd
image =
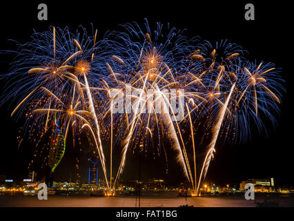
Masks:
[[[126,1],[127,2],[127,1]],[[169,22],[176,28],[186,28],[186,35],[193,37],[199,35],[202,39],[211,42],[228,39],[241,45],[248,51],[248,58],[257,61],[271,61],[277,67],[282,68],[282,78],[286,81],[281,114],[277,117],[277,127],[273,128],[266,122],[268,134],[259,135],[253,133],[251,140],[245,144],[224,144],[217,147],[215,159],[208,170],[208,180],[219,184],[239,183],[248,178],[275,177],[277,184],[294,184],[293,169],[293,37],[290,6],[277,5],[277,3],[253,3],[255,4],[255,21],[244,19],[244,6],[248,2],[229,3],[222,1],[212,3],[205,1],[183,1],[181,5],[166,1],[137,1],[126,3],[119,1],[75,1],[66,3],[52,1],[40,1],[31,3],[22,1],[14,3],[10,1],[6,7],[1,7],[1,41],[0,50],[15,50],[15,44],[8,41],[14,39],[25,43],[30,39],[33,29],[38,32],[48,30],[49,26],[61,28],[69,26],[75,31],[79,25],[98,29],[98,37],[102,37],[106,30],[113,30],[119,23],[136,21],[143,23],[146,17],[151,25],[160,21]],[[169,3],[168,3],[169,2]],[[48,21],[37,19],[37,6],[39,3],[48,5]],[[0,73],[8,72],[12,57],[0,54]],[[6,82],[1,81],[1,93]],[[11,103],[11,106],[8,104]],[[31,159],[31,147],[23,145],[17,148],[17,131],[20,123],[10,117],[15,106],[11,101],[0,107],[0,175],[7,175],[12,179],[23,179],[27,175],[28,160]],[[254,128],[253,128],[254,131]],[[84,148],[87,147],[85,142]],[[67,153],[56,172],[56,179],[69,180],[69,171],[75,174],[75,150],[70,150],[70,142],[67,144]],[[81,155],[82,182],[88,179],[88,156]],[[137,158],[128,155],[126,170],[122,178],[137,179]],[[170,163],[173,164],[173,159]],[[175,163],[174,163],[175,164]],[[158,166],[163,170],[158,170]],[[164,177],[170,183],[183,181],[182,171],[173,165],[170,173],[165,175],[165,159],[142,160],[142,178]],[[102,173],[100,173],[102,176]],[[73,177],[74,178],[74,177]]]

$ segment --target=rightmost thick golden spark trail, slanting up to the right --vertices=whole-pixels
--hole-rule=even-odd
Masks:
[[[202,166],[202,171],[201,171],[200,176],[199,176],[199,182],[198,182],[198,186],[197,186],[197,193],[199,191],[199,184],[201,183],[202,173],[203,173],[203,179],[204,179],[205,176],[206,176],[207,170],[208,170],[208,166],[210,164],[211,157],[213,156],[213,152],[215,152],[215,143],[217,142],[217,137],[219,135],[219,130],[220,130],[221,126],[222,126],[224,115],[226,113],[226,108],[228,106],[228,102],[231,99],[231,95],[233,93],[234,88],[235,88],[235,83],[233,84],[233,86],[231,88],[231,91],[230,91],[228,97],[226,98],[226,102],[222,106],[222,109],[221,109],[221,111],[219,113],[219,116],[217,117],[218,118],[217,123],[213,127],[213,140],[211,140],[210,144],[208,145],[208,153],[206,154],[206,157],[205,157],[205,160],[204,160],[204,163],[203,163],[203,166]]]

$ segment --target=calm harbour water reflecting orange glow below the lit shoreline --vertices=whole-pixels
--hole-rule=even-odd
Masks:
[[[142,207],[178,207],[188,204],[194,207],[255,207],[262,202],[265,194],[257,195],[256,200],[245,200],[244,195],[207,195],[203,198],[177,198],[175,193],[155,193],[142,195]],[[268,194],[267,194],[268,196]],[[293,195],[271,194],[279,206],[294,206]],[[48,195],[48,200],[38,200],[37,196],[0,195],[1,207],[135,207],[136,196],[119,195],[115,198],[91,197],[88,195]]]

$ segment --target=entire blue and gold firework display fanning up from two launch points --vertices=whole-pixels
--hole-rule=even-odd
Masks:
[[[75,143],[85,132],[96,148],[106,195],[115,195],[129,150],[165,154],[166,148],[175,153],[191,194],[199,195],[216,147],[246,141],[253,127],[265,131],[265,119],[275,125],[284,90],[280,70],[248,61],[241,46],[189,39],[168,24],[152,30],[147,20],[119,26],[102,39],[97,30],[74,34],[52,27],[35,32],[15,54],[3,76],[10,84],[1,103],[17,100],[11,115],[26,118],[24,135],[42,140],[52,134],[63,143],[52,141],[61,150],[49,159],[53,171],[69,137]],[[121,153],[115,164],[113,151]]]

